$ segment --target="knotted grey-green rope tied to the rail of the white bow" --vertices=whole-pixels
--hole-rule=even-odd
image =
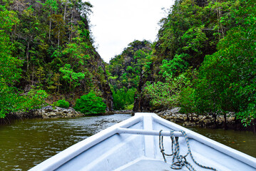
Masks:
[[[163,136],[161,135],[161,132],[163,130],[160,130],[159,131],[159,148],[160,148],[160,152],[162,153],[163,155],[163,160],[166,162],[166,159],[165,159],[165,155],[166,156],[173,156],[173,161],[172,161],[172,164],[170,165],[170,168],[172,168],[173,170],[180,170],[182,169],[183,166],[187,167],[188,170],[190,171],[196,171],[195,168],[193,167],[193,165],[190,164],[190,162],[188,162],[186,160],[186,157],[188,155],[191,156],[193,162],[195,162],[196,165],[200,166],[200,167],[203,167],[205,169],[210,169],[210,170],[215,170],[217,171],[215,168],[213,167],[208,167],[208,166],[204,166],[204,165],[200,165],[198,162],[195,161],[193,155],[192,155],[192,152],[190,150],[190,144],[188,142],[188,135],[185,133],[185,131],[183,130],[178,130],[180,133],[182,133],[182,135],[185,137],[185,141],[186,141],[186,144],[188,146],[188,152],[186,155],[180,155],[180,145],[179,145],[179,142],[178,142],[178,137],[175,137],[173,135],[173,132],[174,130],[170,130],[170,140],[172,140],[172,154],[168,155],[166,154],[164,151],[165,151],[165,148],[163,147]]]

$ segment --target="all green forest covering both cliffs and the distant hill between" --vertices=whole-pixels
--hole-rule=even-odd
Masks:
[[[81,0],[0,2],[0,118],[46,100],[74,105],[84,94],[76,108],[102,113],[113,92],[116,110],[148,101],[150,110],[181,107],[214,118],[233,112],[256,124],[254,1],[176,0],[158,39],[133,41],[106,71],[92,46],[91,7]],[[88,100],[97,110],[84,107]]]

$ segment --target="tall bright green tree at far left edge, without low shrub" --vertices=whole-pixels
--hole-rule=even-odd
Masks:
[[[19,95],[13,86],[21,78],[21,60],[11,55],[14,46],[8,35],[17,23],[16,13],[0,6],[0,118],[19,110]]]

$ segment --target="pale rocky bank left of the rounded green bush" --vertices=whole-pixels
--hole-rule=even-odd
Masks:
[[[50,105],[36,110],[35,115],[40,116],[40,118],[72,118],[83,116],[83,113],[77,112],[73,108],[58,108],[53,109]]]

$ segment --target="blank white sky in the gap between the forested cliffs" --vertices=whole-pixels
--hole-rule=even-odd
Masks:
[[[89,17],[94,46],[107,63],[134,40],[155,41],[158,23],[174,3],[174,0],[88,1],[93,5]]]

